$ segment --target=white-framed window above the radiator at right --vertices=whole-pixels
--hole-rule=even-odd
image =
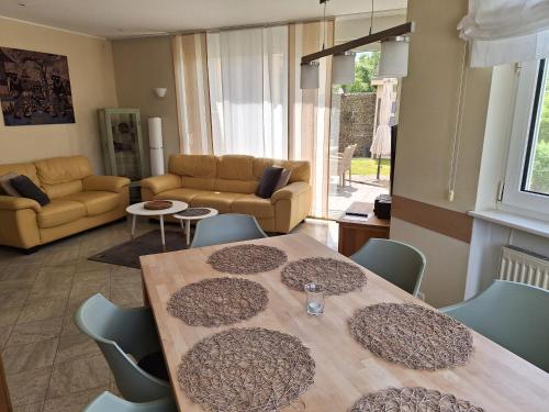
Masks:
[[[515,100],[503,209],[549,215],[549,62],[522,65]]]

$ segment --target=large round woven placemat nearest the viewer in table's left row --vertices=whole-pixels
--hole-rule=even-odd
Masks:
[[[178,382],[206,411],[278,411],[314,383],[315,363],[300,339],[260,327],[206,337],[182,358]]]

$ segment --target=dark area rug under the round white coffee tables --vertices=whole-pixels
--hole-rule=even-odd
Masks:
[[[188,246],[184,243],[181,231],[166,231],[166,252],[182,250],[186,248],[188,248]],[[160,231],[155,230],[135,237],[132,241],[90,256],[88,259],[139,269],[139,256],[154,255],[163,252]]]

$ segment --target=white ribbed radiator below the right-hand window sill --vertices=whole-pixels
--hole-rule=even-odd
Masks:
[[[549,290],[549,258],[518,247],[503,246],[500,279]]]

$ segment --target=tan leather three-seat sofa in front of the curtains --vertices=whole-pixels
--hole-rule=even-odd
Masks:
[[[292,169],[290,182],[270,199],[255,196],[267,166]],[[276,160],[253,156],[171,155],[168,174],[142,180],[142,198],[182,200],[220,213],[257,218],[267,232],[288,233],[311,209],[309,162]]]

